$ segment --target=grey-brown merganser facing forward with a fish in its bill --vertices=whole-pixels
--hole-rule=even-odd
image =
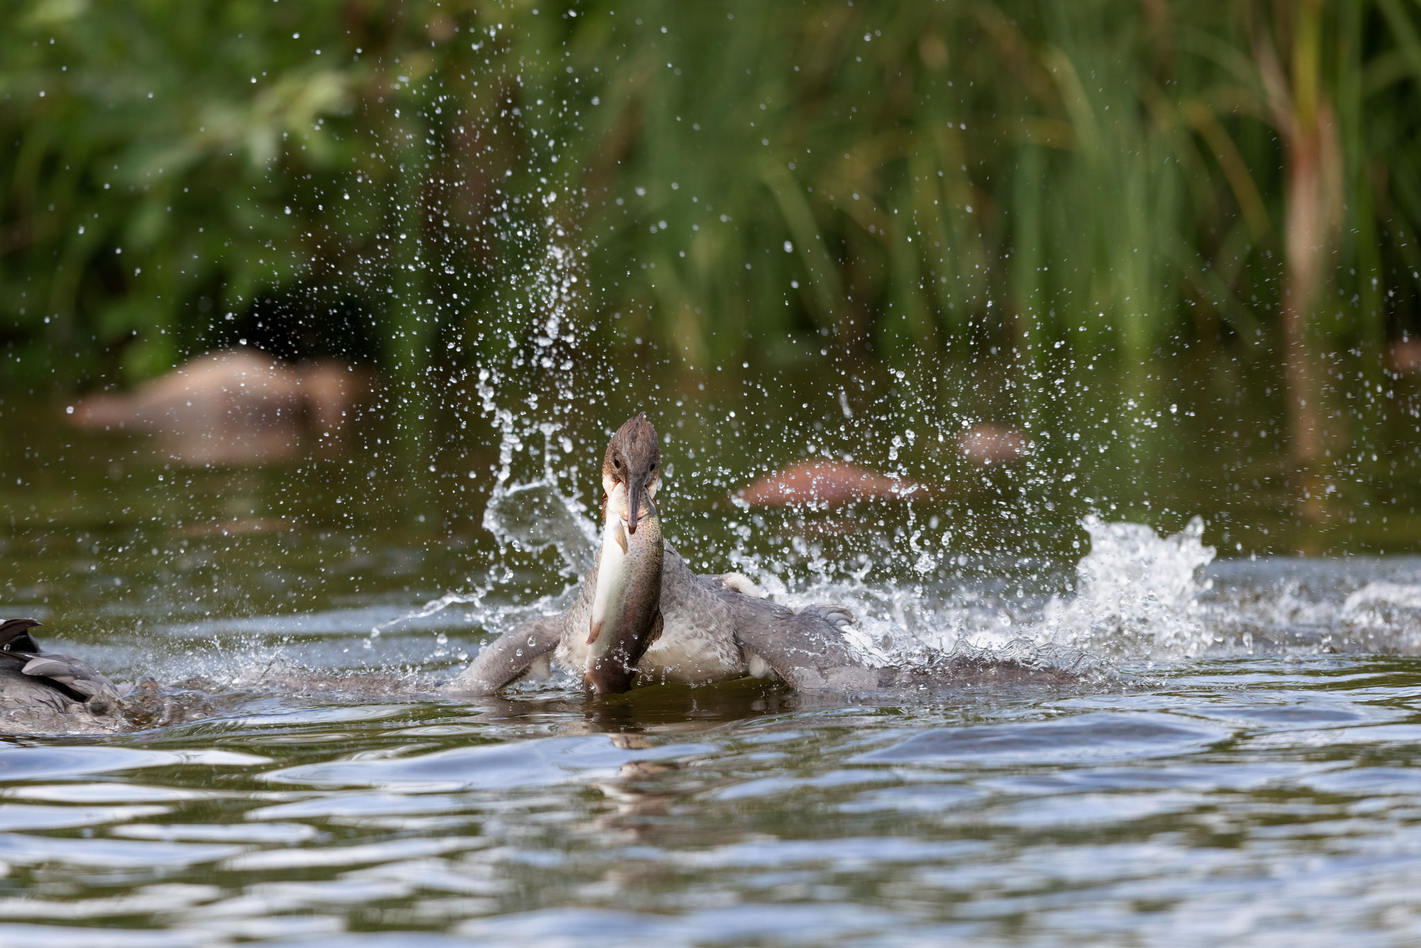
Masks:
[[[908,672],[872,667],[845,642],[847,610],[791,610],[736,573],[692,573],[661,539],[659,486],[657,432],[637,415],[603,458],[603,543],[577,601],[485,645],[449,689],[493,694],[530,671],[546,674],[551,657],[594,694],[772,674],[800,691],[908,684]]]

